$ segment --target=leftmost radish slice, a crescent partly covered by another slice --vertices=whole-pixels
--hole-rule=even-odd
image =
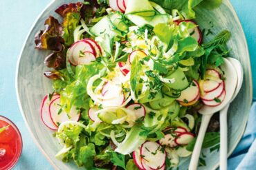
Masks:
[[[55,126],[55,124],[51,120],[51,115],[49,112],[49,105],[50,105],[51,101],[55,100],[56,98],[60,98],[60,95],[53,94],[53,97],[51,98],[51,100],[49,100],[48,95],[46,95],[43,99],[42,107],[41,107],[42,121],[43,121],[44,125],[46,125],[46,127],[50,128],[52,130],[57,130],[57,126]]]

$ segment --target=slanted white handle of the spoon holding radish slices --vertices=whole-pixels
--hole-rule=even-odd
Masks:
[[[199,134],[197,136],[196,144],[194,145],[194,150],[193,150],[192,157],[190,160],[190,167],[188,168],[189,170],[197,169],[197,164],[199,162],[199,156],[201,153],[201,147],[203,144],[203,138],[205,136],[205,132],[206,132],[206,129],[208,127],[211,117],[212,117],[212,114],[211,115],[203,115],[203,117],[202,117]]]

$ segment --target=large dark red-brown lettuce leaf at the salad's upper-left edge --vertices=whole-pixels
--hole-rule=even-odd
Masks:
[[[40,30],[35,36],[35,47],[42,50],[62,51],[64,44],[62,25],[52,16],[46,19],[44,25],[46,29]]]

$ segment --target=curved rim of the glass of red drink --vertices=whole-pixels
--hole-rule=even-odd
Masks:
[[[13,127],[13,129],[15,129],[15,131],[17,132],[17,134],[19,136],[19,141],[20,141],[19,143],[21,145],[21,149],[19,149],[17,151],[17,156],[15,155],[14,159],[10,162],[10,165],[8,167],[5,167],[5,168],[7,168],[7,170],[10,170],[13,167],[15,167],[15,165],[19,161],[19,158],[21,157],[21,153],[22,153],[22,149],[23,149],[23,140],[22,140],[22,136],[21,136],[21,132],[19,131],[19,128],[17,127],[17,125],[15,125],[15,123],[12,122],[12,120],[10,120],[9,118],[6,118],[5,116],[1,116],[1,115],[0,115],[0,120],[6,121]]]

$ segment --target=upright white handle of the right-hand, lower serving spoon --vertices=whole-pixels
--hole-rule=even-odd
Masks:
[[[221,143],[220,143],[220,156],[219,156],[219,169],[226,170],[227,159],[228,159],[228,107],[226,105],[221,111],[219,112],[219,122],[220,122],[220,133],[221,133]]]

